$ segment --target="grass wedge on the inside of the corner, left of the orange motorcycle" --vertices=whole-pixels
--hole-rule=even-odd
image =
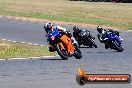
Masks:
[[[57,53],[49,52],[47,46],[35,46],[0,40],[0,59],[55,55],[57,55]]]

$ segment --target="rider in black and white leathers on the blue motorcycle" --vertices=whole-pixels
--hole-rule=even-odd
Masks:
[[[101,26],[97,26],[97,31],[98,31],[97,37],[98,37],[98,39],[100,40],[101,43],[104,43],[107,40],[107,38],[106,38],[106,33],[107,32],[112,32],[112,33],[116,34],[120,38],[119,32],[118,31],[114,31],[112,29],[104,29]],[[122,40],[123,39],[121,39],[121,41]]]

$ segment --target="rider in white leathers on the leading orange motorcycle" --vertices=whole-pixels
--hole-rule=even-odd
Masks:
[[[77,44],[74,37],[72,37],[72,34],[70,33],[70,31],[67,31],[66,28],[63,28],[61,26],[54,26],[53,23],[46,23],[45,26],[44,26],[44,29],[45,29],[47,35],[52,33],[52,30],[54,30],[55,28],[57,28],[59,31],[65,33],[68,37],[70,37],[72,39],[73,44]],[[47,39],[47,41],[49,42],[49,45],[50,45],[49,46],[49,51],[54,52],[55,51],[54,46],[50,43],[50,41],[48,39]],[[70,52],[70,54],[73,54],[73,52]]]

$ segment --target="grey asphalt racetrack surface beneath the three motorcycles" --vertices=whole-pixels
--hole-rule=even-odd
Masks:
[[[47,45],[44,22],[31,22],[6,17],[0,18],[0,38]],[[72,29],[74,25],[64,25]],[[96,37],[95,28],[86,28]],[[1,60],[0,88],[132,88],[130,84],[86,84],[76,83],[77,68],[82,66],[87,73],[132,75],[132,32],[120,30],[124,39],[123,52],[106,50],[96,38],[98,48],[81,48],[83,58],[61,60],[60,57]]]

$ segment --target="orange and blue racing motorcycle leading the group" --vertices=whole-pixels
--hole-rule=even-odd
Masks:
[[[74,44],[67,34],[59,31],[57,28],[49,33],[48,40],[63,60],[67,60],[71,56],[74,56],[76,59],[82,58],[77,44]]]

